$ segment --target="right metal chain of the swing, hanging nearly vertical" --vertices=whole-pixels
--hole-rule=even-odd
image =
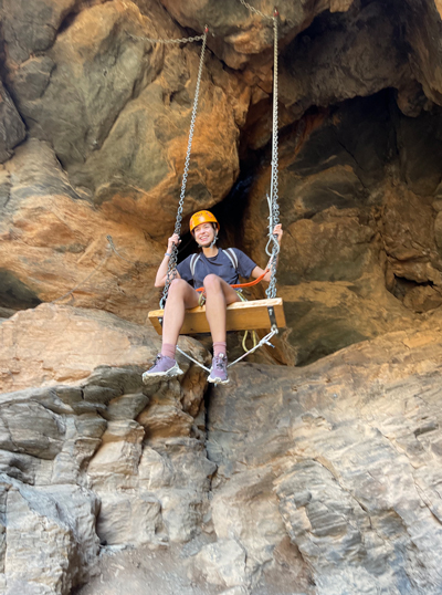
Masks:
[[[241,0],[242,1],[242,0]],[[271,257],[270,269],[271,280],[265,294],[267,298],[276,298],[276,267],[277,254],[280,253],[280,244],[273,233],[273,229],[280,222],[280,206],[278,206],[278,155],[277,155],[277,12],[273,15],[273,34],[274,34],[274,51],[273,51],[273,134],[272,134],[272,181],[269,207],[269,242],[265,247],[266,253]],[[272,246],[272,250],[270,250]]]

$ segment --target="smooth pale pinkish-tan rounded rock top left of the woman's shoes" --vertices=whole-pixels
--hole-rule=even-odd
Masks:
[[[75,384],[101,366],[143,369],[160,351],[160,338],[150,325],[144,327],[106,312],[55,304],[18,312],[0,325],[0,336],[2,392]],[[189,355],[206,362],[207,352],[196,341],[182,337],[179,344]],[[186,383],[191,408],[198,378],[191,372],[193,364],[185,359],[182,365],[181,369],[190,370]],[[93,396],[86,393],[87,398]],[[115,396],[110,390],[108,400]],[[125,410],[124,405],[115,404],[110,415],[120,417],[119,409]]]

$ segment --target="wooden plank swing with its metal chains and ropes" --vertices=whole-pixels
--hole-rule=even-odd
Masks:
[[[278,138],[277,138],[277,124],[278,124],[278,113],[277,113],[277,95],[278,95],[278,73],[277,73],[277,36],[278,36],[278,12],[275,9],[273,12],[273,15],[270,17],[267,14],[264,14],[260,10],[255,9],[245,0],[240,0],[240,2],[249,9],[251,12],[264,18],[264,19],[272,19],[273,20],[273,38],[274,38],[274,48],[273,48],[273,62],[274,62],[274,70],[273,70],[273,112],[272,112],[272,173],[271,173],[271,189],[270,189],[270,196],[267,195],[267,202],[269,202],[269,241],[265,247],[265,252],[270,257],[270,261],[267,264],[267,269],[264,271],[264,273],[256,280],[249,282],[249,283],[238,283],[231,285],[233,289],[236,288],[244,288],[244,286],[253,286],[257,284],[264,275],[270,271],[271,272],[271,279],[270,284],[266,290],[266,298],[267,300],[257,300],[254,302],[235,302],[233,304],[228,305],[227,307],[227,322],[228,322],[228,330],[252,330],[254,328],[263,328],[269,327],[269,320],[270,320],[270,332],[260,341],[256,342],[255,336],[253,337],[253,347],[246,353],[244,353],[241,357],[229,364],[230,366],[233,366],[243,357],[246,355],[250,355],[251,353],[255,352],[263,345],[272,346],[271,340],[274,335],[278,332],[278,326],[285,326],[285,317],[284,317],[284,311],[283,311],[283,304],[282,300],[276,298],[276,267],[277,267],[277,257],[280,253],[280,244],[277,241],[277,237],[273,233],[273,230],[275,226],[280,222],[280,208],[278,208],[278,153],[277,153],[277,146],[278,146]],[[198,100],[199,100],[199,91],[200,91],[200,83],[201,83],[201,75],[202,75],[202,64],[204,59],[204,51],[206,51],[206,42],[207,42],[207,33],[208,28],[204,29],[204,34],[200,35],[200,39],[202,39],[202,48],[201,48],[201,54],[200,54],[200,63],[199,63],[199,70],[198,70],[198,79],[197,79],[197,85],[196,85],[196,93],[193,98],[193,108],[192,108],[192,115],[191,115],[191,122],[190,122],[190,129],[189,129],[189,140],[188,140],[188,147],[187,147],[187,155],[186,155],[186,161],[185,161],[185,170],[182,175],[182,182],[181,182],[181,192],[180,192],[180,200],[178,205],[178,211],[177,211],[177,219],[175,225],[175,233],[179,237],[181,231],[181,221],[182,221],[182,211],[183,211],[183,202],[186,197],[186,184],[188,178],[188,171],[189,171],[189,163],[190,163],[190,153],[191,153],[191,145],[192,145],[192,138],[193,138],[193,131],[194,131],[194,123],[197,118],[197,109],[198,109]],[[197,40],[197,38],[191,39]],[[150,41],[150,40],[148,40]],[[173,40],[172,40],[173,41]],[[182,41],[182,40],[175,40],[176,42]],[[224,252],[227,252],[224,250]],[[233,252],[233,250],[232,250]],[[232,260],[231,255],[228,254],[228,257]],[[191,259],[190,265],[192,271],[192,276],[194,273],[194,267],[197,264],[198,259],[200,258],[200,254],[194,254]],[[172,282],[173,278],[177,274],[176,267],[177,267],[177,260],[178,260],[178,246],[173,244],[171,257],[169,259],[168,264],[168,271],[166,274],[166,283],[165,289],[162,291],[162,296],[160,300],[160,309],[159,311],[150,312],[149,313],[149,320],[156,327],[157,332],[160,334],[162,332],[162,320],[164,320],[164,307],[166,304],[167,295],[170,289],[170,283]],[[181,328],[181,334],[197,334],[199,332],[207,332],[208,325],[206,321],[201,317],[201,314],[206,316],[206,312],[203,310],[203,288],[198,288],[197,291],[202,292],[200,298],[200,305],[196,309],[188,310],[186,313],[185,324]],[[241,298],[240,298],[241,299]],[[259,321],[256,322],[256,325],[254,327],[249,326],[251,321],[250,316],[249,320],[246,320],[246,313],[248,311],[245,309],[250,309],[250,311],[253,313],[253,320]],[[262,313],[263,310],[266,310],[267,315],[267,323],[263,323]],[[245,316],[244,316],[245,312]],[[189,320],[193,317],[193,322],[189,322]],[[229,319],[234,319],[236,323],[230,324]],[[239,322],[238,322],[239,321]],[[243,344],[245,344],[246,335],[244,335]],[[178,348],[178,347],[177,347]],[[178,348],[178,352],[181,353],[183,356],[186,356],[188,359],[192,361],[203,369],[208,370],[207,367],[201,365],[196,359],[191,358],[188,354],[182,352]],[[209,370],[208,370],[209,372]]]

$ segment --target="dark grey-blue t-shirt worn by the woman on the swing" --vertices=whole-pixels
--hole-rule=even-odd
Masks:
[[[202,288],[204,278],[208,274],[217,274],[218,276],[221,276],[221,279],[223,279],[227,283],[229,283],[229,285],[234,285],[235,283],[238,283],[239,274],[248,279],[252,274],[252,271],[256,267],[256,264],[255,262],[253,262],[252,259],[250,259],[246,254],[244,254],[244,252],[242,252],[238,248],[231,248],[231,250],[234,251],[238,258],[236,271],[232,264],[232,261],[227,254],[224,254],[221,248],[218,249],[218,254],[213,258],[207,258],[201,252],[200,258],[196,262],[193,275],[194,279],[192,278],[192,273],[190,271],[190,261],[194,254],[187,257],[187,259],[180,262],[177,267],[177,270],[181,275],[181,279],[183,279],[190,284],[193,284],[196,289]]]

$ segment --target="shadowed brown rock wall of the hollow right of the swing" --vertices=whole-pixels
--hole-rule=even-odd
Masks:
[[[441,305],[442,145],[430,134],[441,122],[439,109],[404,116],[393,94],[382,92],[311,113],[286,133],[280,196],[287,233],[278,267],[290,327],[285,361],[309,363],[419,325]],[[269,179],[264,163],[242,211],[243,241],[257,262]]]

